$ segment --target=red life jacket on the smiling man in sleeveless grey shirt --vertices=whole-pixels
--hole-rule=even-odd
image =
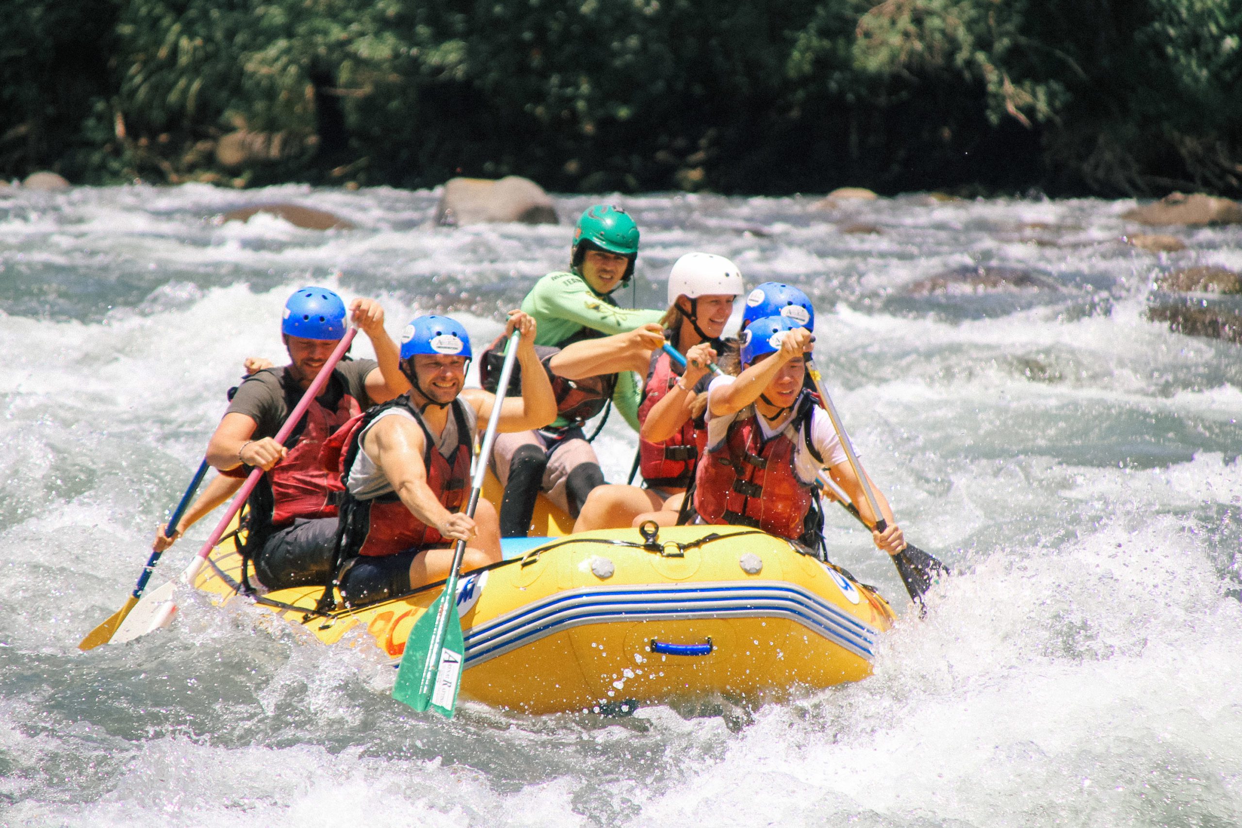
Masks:
[[[405,394],[345,423],[324,443],[319,462],[327,468],[338,469],[339,485],[345,488],[349,483],[349,472],[358,459],[358,453],[363,451],[363,432],[380,412],[395,406],[405,407],[422,428],[425,446],[422,459],[427,467],[427,487],[436,494],[442,506],[450,511],[460,510],[469,494],[469,466],[474,453],[476,427],[474,410],[461,398],[453,400],[451,407],[457,426],[457,446],[447,458],[436,448],[436,438],[427,428],[422,413],[410,405],[410,396]],[[347,494],[342,520],[344,521],[342,560],[354,555],[396,555],[407,549],[432,546],[445,540],[437,529],[410,514],[395,492],[366,500]]]

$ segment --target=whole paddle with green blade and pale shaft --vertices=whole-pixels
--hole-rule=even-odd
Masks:
[[[466,514],[474,516],[483,479],[487,477],[487,458],[492,456],[496,442],[496,430],[501,423],[501,405],[509,387],[509,376],[518,358],[518,339],[522,333],[513,331],[509,346],[504,353],[504,366],[501,369],[501,381],[496,386],[496,400],[492,402],[492,416],[483,433],[483,447],[474,459],[474,479],[471,483],[469,500]],[[457,576],[466,555],[466,541],[453,545],[453,562],[448,567],[445,588],[427,611],[419,617],[410,636],[405,641],[401,667],[396,673],[396,685],[392,698],[410,705],[420,713],[433,709],[447,719],[453,718],[457,706],[457,689],[461,686],[462,668],[466,662],[466,643],[462,638],[462,621],[457,616]]]

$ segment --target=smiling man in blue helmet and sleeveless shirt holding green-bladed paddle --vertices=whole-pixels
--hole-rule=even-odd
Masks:
[[[501,405],[501,432],[539,428],[556,416],[534,319],[510,312],[505,339],[513,330],[522,331],[522,392]],[[474,439],[496,407],[496,395],[465,387],[469,336],[447,317],[419,317],[401,336],[400,356],[409,391],[350,421],[320,458],[347,492],[337,582],[350,606],[446,577],[457,540],[467,541],[462,571],[501,560],[494,506],[479,499],[473,518],[462,511]]]

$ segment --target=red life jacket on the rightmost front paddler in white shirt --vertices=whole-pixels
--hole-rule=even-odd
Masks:
[[[810,439],[811,411],[811,398],[804,394],[794,420],[766,443],[754,408],[739,415],[720,444],[699,463],[694,480],[699,516],[709,524],[751,526],[800,540],[806,533],[815,484],[797,479],[794,452],[797,441],[805,439],[820,459]]]

